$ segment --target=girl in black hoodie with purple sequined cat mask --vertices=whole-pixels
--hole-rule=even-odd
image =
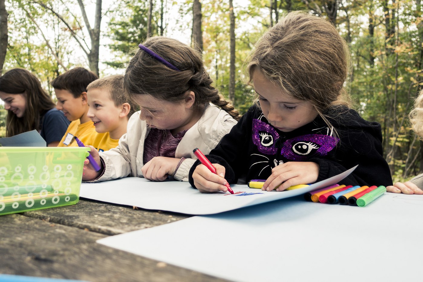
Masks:
[[[266,179],[263,190],[282,191],[357,164],[343,183],[391,185],[380,124],[360,118],[343,98],[348,67],[348,47],[330,22],[304,12],[281,18],[247,67],[258,104],[207,155],[217,174],[197,161],[191,185],[226,192],[226,181]]]

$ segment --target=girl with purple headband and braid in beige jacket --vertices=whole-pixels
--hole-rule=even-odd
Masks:
[[[129,119],[118,147],[99,155],[91,148],[103,170],[85,166],[82,179],[187,181],[193,148],[209,153],[239,119],[211,83],[200,54],[186,44],[165,37],[140,44],[126,68],[124,90],[141,110]]]

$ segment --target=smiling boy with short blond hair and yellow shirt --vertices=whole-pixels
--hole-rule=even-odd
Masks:
[[[118,145],[119,138],[126,133],[129,117],[135,111],[124,94],[123,77],[112,75],[97,79],[87,86],[87,116],[93,121],[96,131],[104,134],[99,144],[93,145],[99,152]]]

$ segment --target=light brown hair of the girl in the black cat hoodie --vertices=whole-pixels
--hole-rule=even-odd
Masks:
[[[349,106],[343,86],[349,69],[349,50],[338,30],[327,20],[293,11],[264,33],[247,66],[248,84],[255,71],[288,95],[310,101],[323,112],[335,105]]]

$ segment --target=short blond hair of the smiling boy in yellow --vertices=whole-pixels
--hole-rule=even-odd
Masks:
[[[135,112],[135,105],[124,93],[123,79],[124,76],[119,74],[102,77],[88,84],[87,91],[94,88],[109,91],[110,99],[115,103],[116,107],[119,107],[124,103],[128,103],[131,107],[128,114],[129,118]]]

